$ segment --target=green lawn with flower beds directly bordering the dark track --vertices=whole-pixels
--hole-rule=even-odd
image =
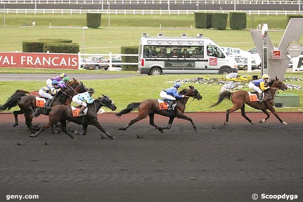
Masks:
[[[156,99],[159,98],[161,90],[170,87],[171,83],[165,83],[166,81],[177,80],[177,79],[189,79],[201,77],[222,77],[222,75],[162,75],[162,76],[143,76],[143,77],[129,77],[112,80],[95,80],[95,81],[84,81],[84,84],[88,87],[93,87],[96,90],[94,96],[100,96],[106,94],[110,96],[117,106],[117,111],[124,109],[129,103],[141,102],[144,99]],[[289,75],[287,75],[289,76]],[[300,75],[303,78],[303,75]],[[303,85],[303,81],[288,82],[298,85]],[[7,97],[16,89],[24,90],[37,90],[44,86],[44,82],[0,82],[0,88],[2,89],[2,96],[0,103],[6,102]],[[189,84],[183,84],[182,87],[188,88]],[[231,108],[232,104],[229,100],[225,100],[219,106],[210,108],[210,105],[218,100],[219,91],[221,85],[205,85],[205,84],[192,84],[203,96],[202,100],[194,100],[189,106],[187,106],[187,112],[224,112],[226,109]],[[26,87],[24,87],[26,86]],[[245,88],[245,90],[248,90]],[[288,90],[287,92],[293,92],[303,98],[303,91]],[[191,99],[190,99],[191,100]],[[303,103],[301,102],[299,107],[296,108],[277,108],[277,111],[302,111]],[[109,110],[107,110],[109,111]],[[257,111],[247,106],[246,111]]]

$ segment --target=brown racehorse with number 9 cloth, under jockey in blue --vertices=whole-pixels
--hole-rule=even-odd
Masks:
[[[129,126],[136,123],[137,121],[146,118],[149,116],[149,124],[156,127],[161,133],[164,133],[163,129],[170,129],[174,119],[177,117],[178,119],[184,119],[191,122],[195,131],[197,131],[196,126],[194,125],[192,119],[190,117],[185,116],[183,113],[185,111],[185,105],[189,97],[193,97],[193,99],[202,99],[202,96],[195,89],[193,86],[189,86],[189,89],[183,89],[180,91],[181,95],[185,95],[185,97],[180,98],[177,100],[177,105],[175,110],[160,110],[158,100],[157,99],[146,99],[140,103],[131,103],[127,106],[126,109],[122,110],[121,112],[117,113],[116,116],[121,117],[123,114],[130,113],[134,110],[138,110],[138,117],[131,120],[129,124],[125,127],[119,128],[119,130],[126,130]],[[167,127],[159,127],[154,123],[154,116],[155,114],[159,114],[162,116],[169,117],[169,122]]]

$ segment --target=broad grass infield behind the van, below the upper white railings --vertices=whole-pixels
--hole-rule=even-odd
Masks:
[[[258,24],[268,23],[270,28],[286,27],[286,16],[254,16],[254,28]],[[0,15],[0,19],[2,19]],[[8,26],[22,26],[24,23],[31,25],[32,21],[37,26],[85,26],[85,15],[6,15]],[[0,25],[3,23],[0,20]],[[193,15],[111,15],[111,28],[108,28],[107,15],[103,15],[102,26],[99,29],[85,31],[85,53],[120,53],[120,46],[138,45],[142,32],[150,36],[164,33],[166,36],[180,36],[188,33],[188,36],[196,36],[203,33],[212,38],[220,46],[238,47],[248,50],[255,47],[249,30],[215,30],[215,29],[158,29],[162,27],[194,27]],[[251,18],[247,16],[247,28],[251,28]],[[121,28],[123,27],[123,28]],[[283,35],[283,31],[270,32],[271,40],[277,45]],[[46,27],[1,27],[0,28],[0,51],[21,51],[23,40],[38,38],[69,38],[82,47],[82,29],[70,28],[46,28]],[[301,39],[303,41],[303,37]],[[82,52],[82,48],[80,48]]]

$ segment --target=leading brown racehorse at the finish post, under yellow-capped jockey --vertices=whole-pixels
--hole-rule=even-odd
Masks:
[[[275,79],[271,79],[268,82],[268,86],[270,86],[270,88],[264,91],[264,93],[268,96],[268,99],[266,99],[262,103],[258,101],[250,102],[248,92],[245,90],[238,90],[235,92],[224,91],[219,95],[218,102],[212,105],[211,107],[219,105],[224,99],[231,100],[233,107],[229,110],[226,110],[226,121],[224,122],[224,125],[227,125],[228,123],[229,114],[238,109],[241,109],[242,117],[244,117],[250,124],[254,124],[254,122],[252,122],[245,114],[245,104],[257,110],[262,110],[262,112],[264,112],[267,115],[267,117],[261,120],[259,123],[264,123],[267,119],[269,119],[270,115],[267,112],[267,110],[269,110],[275,115],[275,117],[277,117],[277,119],[279,119],[279,121],[283,125],[287,125],[287,123],[282,121],[282,119],[280,119],[280,117],[277,115],[274,108],[274,100],[273,100],[276,90],[277,89],[287,90],[287,86],[277,77]]]

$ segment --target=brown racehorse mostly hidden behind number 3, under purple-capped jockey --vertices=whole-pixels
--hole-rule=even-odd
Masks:
[[[79,93],[87,91],[87,88],[83,85],[83,82],[81,82],[81,81],[79,82],[77,79],[73,78],[73,80],[69,81],[67,84],[70,85],[72,88],[74,88]],[[29,94],[29,95],[32,95],[32,96],[40,96],[39,93],[38,93],[38,90],[32,91],[32,92],[29,92],[29,91],[26,91],[26,90],[16,90],[16,92],[23,92],[25,94]],[[72,102],[72,97],[68,97],[65,101],[65,105],[70,106],[71,102]],[[14,111],[13,113],[14,113],[14,117],[15,117],[15,124],[13,125],[13,127],[15,127],[15,126],[19,125],[18,124],[18,115],[19,114],[24,114],[24,113],[23,113],[22,110]],[[36,113],[36,116],[39,116],[39,111]]]

